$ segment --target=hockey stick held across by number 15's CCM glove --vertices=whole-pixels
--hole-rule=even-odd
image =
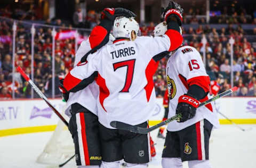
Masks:
[[[206,100],[205,102],[199,104],[198,107],[209,104],[212,101],[214,101],[214,100],[216,100],[220,97],[227,96],[227,95],[233,93],[234,91],[236,91],[237,89],[238,89],[237,87],[233,87],[229,90],[226,90],[223,93],[221,93],[217,96],[214,96],[213,98],[210,98],[209,100]],[[126,131],[131,131],[131,132],[140,133],[140,134],[147,134],[148,132],[157,129],[157,128],[161,127],[162,125],[165,125],[165,124],[170,123],[174,120],[180,119],[180,117],[181,117],[181,114],[176,114],[173,117],[171,117],[170,119],[167,119],[167,120],[165,120],[165,121],[163,121],[159,124],[156,124],[156,125],[154,125],[153,127],[150,127],[150,128],[141,128],[141,127],[138,127],[136,125],[126,124],[126,123],[123,123],[123,122],[120,122],[120,121],[111,121],[110,125],[111,125],[111,127],[114,127],[114,128],[120,129],[120,130],[126,130]]]

